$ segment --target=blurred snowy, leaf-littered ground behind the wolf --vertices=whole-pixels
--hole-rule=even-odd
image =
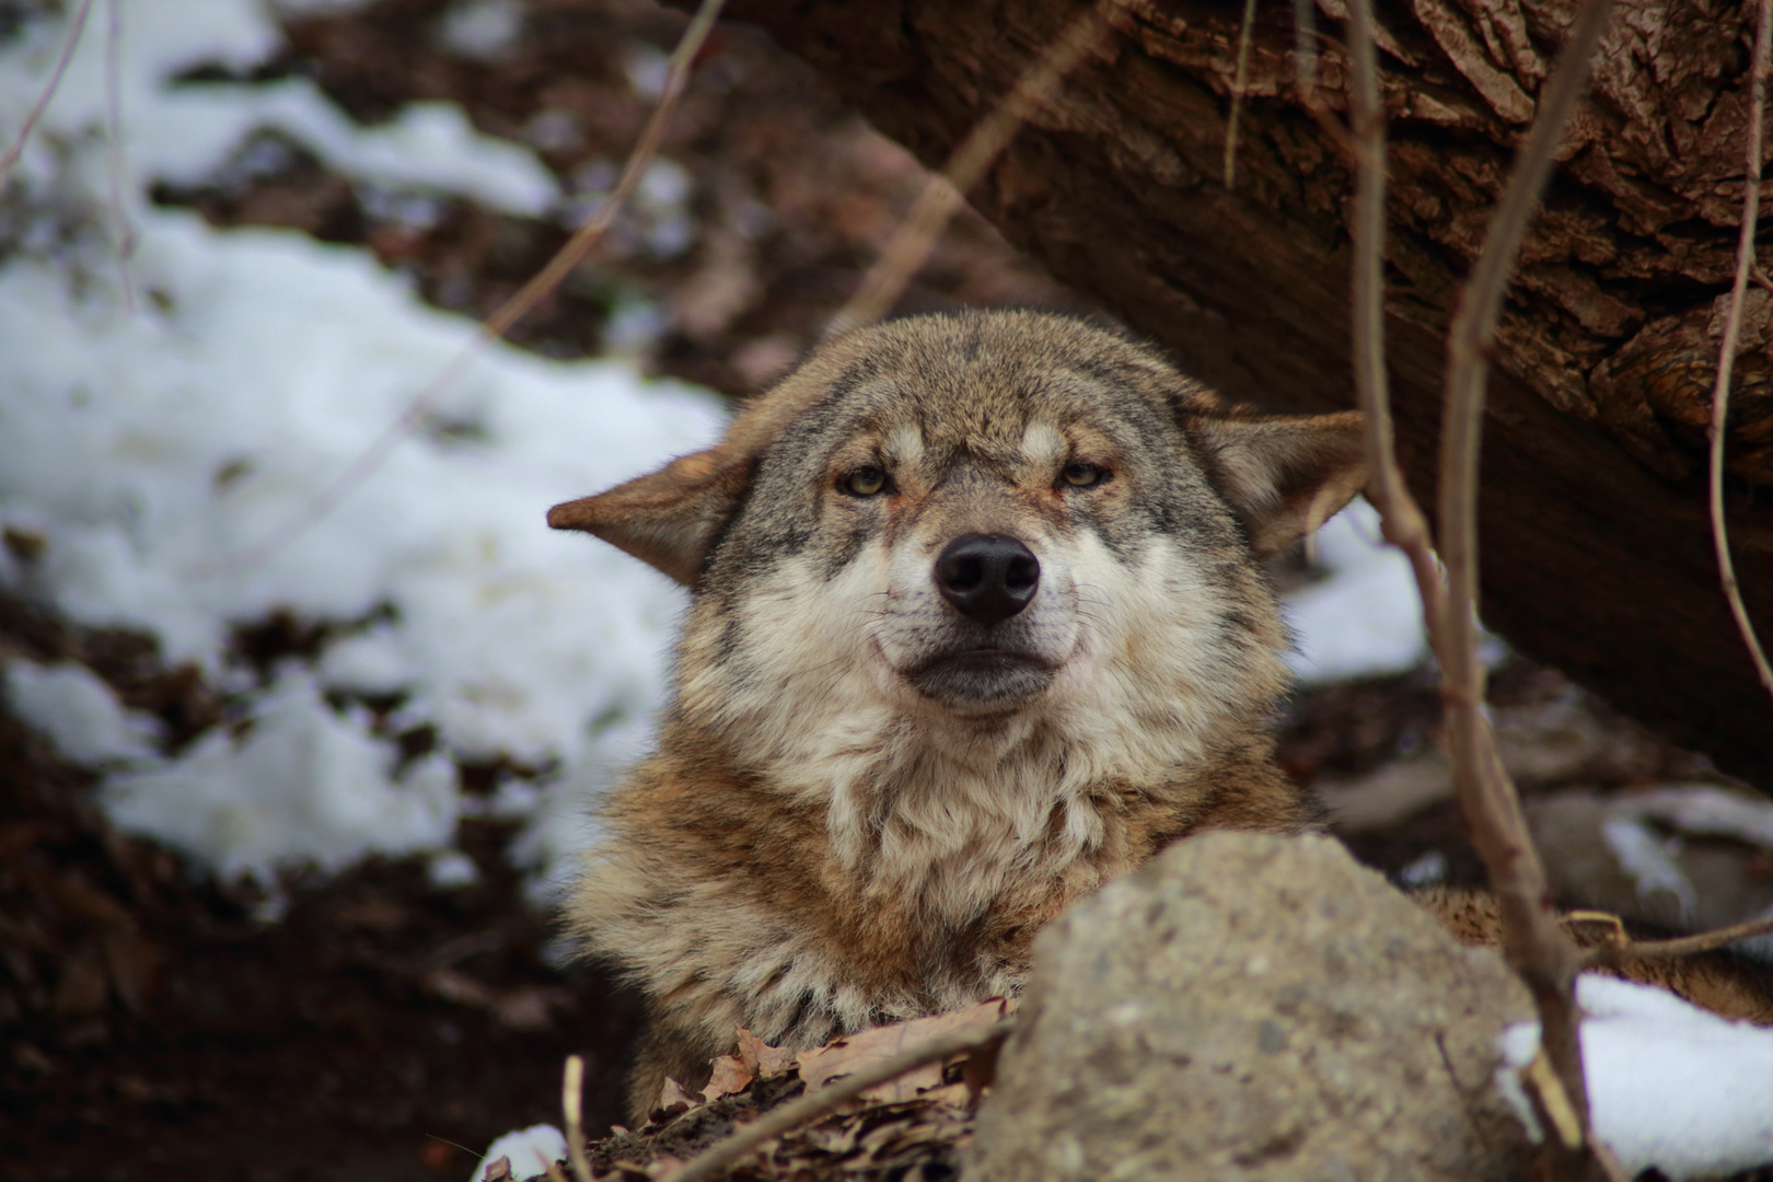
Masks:
[[[59,76],[0,165],[5,1177],[466,1177],[571,1051],[613,1116],[631,1003],[550,907],[684,597],[543,514],[706,445],[926,179],[720,27],[613,232],[415,402],[613,184],[683,25],[0,0],[0,144]],[[961,305],[1096,312],[965,211],[899,310]],[[1395,879],[1480,881],[1371,510],[1275,578],[1287,771]],[[1764,799],[1489,659],[1566,895],[1773,906]]]

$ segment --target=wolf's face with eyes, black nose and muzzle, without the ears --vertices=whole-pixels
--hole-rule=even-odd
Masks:
[[[1177,425],[1092,358],[984,337],[876,346],[762,452],[702,578],[730,604],[729,696],[816,670],[926,727],[1002,723],[1229,656],[1213,601],[1246,590],[1238,526]]]

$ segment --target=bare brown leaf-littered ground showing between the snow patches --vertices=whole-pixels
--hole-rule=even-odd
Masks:
[[[519,43],[477,60],[440,41],[445,7],[385,0],[293,23],[287,50],[252,76],[309,74],[362,121],[456,99],[484,131],[535,144],[587,193],[608,184],[649,110],[631,74],[656,66],[683,18],[644,0],[534,0]],[[222,76],[200,67],[188,83]],[[594,354],[640,307],[645,363],[743,397],[812,340],[922,179],[745,30],[716,34],[665,156],[690,181],[690,237],[661,248],[644,213],[626,218],[514,333],[519,344]],[[457,198],[390,200],[269,136],[213,183],[156,198],[216,225],[362,245],[426,299],[468,315],[491,310],[567,232]],[[970,214],[901,308],[956,303],[1089,312]],[[28,556],[32,539],[5,544]],[[236,656],[257,668],[300,659],[323,627],[246,622]],[[193,670],[167,668],[140,636],[0,599],[9,652],[83,661],[128,705],[160,714],[172,748],[229,721],[223,696]],[[1550,771],[1527,778],[1534,792],[1714,778],[1702,757],[1660,744],[1553,672],[1505,665],[1493,698],[1518,750],[1548,753],[1539,766]],[[1293,705],[1282,758],[1303,782],[1358,782],[1433,751],[1438,712],[1424,673],[1317,689]],[[479,766],[465,782],[484,792],[514,774],[534,773]],[[473,886],[445,891],[418,863],[371,863],[291,881],[287,914],[262,921],[262,900],[110,831],[92,789],[90,773],[0,714],[0,1177],[463,1178],[493,1136],[557,1120],[560,1063],[574,1051],[590,1065],[590,1124],[612,1120],[631,999],[590,969],[555,964],[551,920],[528,909],[505,863],[509,829],[465,822]],[[1480,879],[1443,797],[1347,838],[1388,872],[1438,856],[1447,881]]]

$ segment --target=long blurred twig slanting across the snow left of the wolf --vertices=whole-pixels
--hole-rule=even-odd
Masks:
[[[367,447],[363,452],[344,470],[332,484],[316,493],[307,503],[303,503],[289,521],[277,526],[262,542],[246,549],[246,553],[225,560],[209,567],[195,571],[197,578],[207,578],[220,574],[223,571],[238,571],[245,567],[254,567],[275,555],[284,546],[307,533],[317,523],[321,523],[339,503],[356,491],[363,480],[367,480],[388,457],[388,454],[399,445],[406,434],[418,425],[431,404],[456,383],[457,377],[468,369],[480,349],[507,331],[511,326],[528,315],[535,305],[548,298],[555,287],[560,285],[574,266],[578,266],[590,248],[608,232],[610,225],[615,222],[615,214],[622,211],[628,198],[633,195],[635,188],[640,184],[640,177],[645,175],[647,165],[658,154],[660,142],[665,138],[665,128],[670,124],[670,117],[677,110],[677,101],[690,80],[690,67],[695,64],[697,53],[702,50],[702,43],[707,41],[709,30],[715,27],[715,18],[720,16],[720,9],[725,0],[702,0],[702,5],[695,11],[690,19],[690,27],[683,32],[683,39],[670,55],[670,67],[665,73],[665,90],[660,94],[658,106],[652,108],[652,117],[640,133],[640,140],[635,144],[633,151],[628,154],[628,163],[622,167],[622,175],[617,179],[615,188],[610,195],[585,218],[573,237],[566,241],[555,257],[548,261],[541,271],[537,271],[530,282],[509,296],[493,315],[486,317],[475,330],[473,337],[457,349],[456,356],[449,360],[443,370],[431,379],[418,395],[406,404],[388,427]]]

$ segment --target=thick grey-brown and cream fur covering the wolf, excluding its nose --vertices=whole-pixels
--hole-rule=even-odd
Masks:
[[[1165,844],[1308,824],[1259,560],[1363,478],[1353,413],[1229,409],[995,312],[851,333],[711,450],[558,505],[693,588],[571,904],[647,996],[635,1116],[739,1026],[807,1047],[1014,992],[1048,920]],[[1032,597],[1018,558],[1021,599],[975,608],[979,567],[936,569],[966,539],[1035,560]]]

